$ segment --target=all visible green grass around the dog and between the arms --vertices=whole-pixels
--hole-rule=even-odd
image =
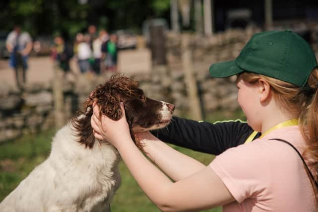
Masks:
[[[235,113],[216,112],[207,116],[207,121],[215,122],[227,119],[244,119],[240,111]],[[0,144],[0,201],[24,179],[32,169],[47,158],[51,149],[51,139],[55,131],[42,132],[38,135],[23,136],[14,141]],[[213,155],[195,152],[179,146],[175,149],[187,154],[204,164],[209,164]],[[134,180],[126,165],[120,163],[122,176],[121,187],[116,192],[111,204],[112,212],[159,212]],[[206,212],[222,212],[222,208]]]

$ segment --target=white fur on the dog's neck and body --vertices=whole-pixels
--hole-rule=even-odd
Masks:
[[[1,203],[0,212],[108,212],[120,185],[120,156],[109,143],[85,148],[71,124],[57,132],[50,156]]]

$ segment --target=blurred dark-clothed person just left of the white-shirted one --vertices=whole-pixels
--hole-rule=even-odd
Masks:
[[[55,59],[59,63],[59,67],[66,73],[70,71],[70,60],[73,57],[72,47],[65,43],[65,40],[62,36],[56,36],[54,38],[54,47],[53,51]]]

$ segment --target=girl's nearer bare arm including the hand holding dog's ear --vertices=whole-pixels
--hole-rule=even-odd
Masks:
[[[122,104],[121,107],[124,111]],[[161,211],[200,211],[235,201],[209,166],[175,183],[171,182],[133,143],[125,114],[118,121],[106,116],[98,119],[99,109],[95,103],[93,109],[91,125],[94,136],[109,141],[118,149],[140,187]]]

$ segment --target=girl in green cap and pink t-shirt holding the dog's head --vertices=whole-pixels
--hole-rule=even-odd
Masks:
[[[214,77],[237,74],[239,105],[248,125],[262,136],[226,150],[205,166],[150,133],[137,134],[145,144],[144,152],[175,182],[135,146],[125,115],[119,121],[110,120],[99,116],[98,105],[93,104],[94,136],[118,149],[161,211],[224,206],[225,212],[315,212],[317,66],[308,43],[291,31],[255,34],[235,61],[212,65]],[[306,159],[309,171],[296,150]]]

